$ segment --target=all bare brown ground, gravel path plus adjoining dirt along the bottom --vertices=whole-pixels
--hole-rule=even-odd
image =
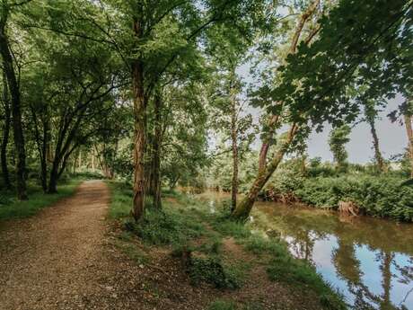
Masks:
[[[166,248],[142,248],[146,260],[119,251],[120,231],[105,221],[110,193],[103,182],[83,182],[72,198],[36,217],[0,224],[0,309],[206,309],[216,298],[257,301],[265,309],[319,309],[252,270],[240,290],[192,287],[180,261]],[[228,257],[242,257],[237,244],[224,244]],[[136,251],[136,250],[134,250]],[[130,255],[129,255],[130,256]],[[261,309],[261,307],[260,307]]]

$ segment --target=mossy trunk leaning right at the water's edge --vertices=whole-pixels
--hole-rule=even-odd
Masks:
[[[276,155],[271,159],[267,168],[259,172],[257,178],[252,183],[248,194],[242,199],[241,203],[233,210],[231,217],[235,220],[245,221],[250,217],[250,210],[254,205],[255,200],[258,198],[259,190],[262,190],[264,185],[268,182],[268,179],[271,177],[278,167],[278,164],[283,160],[284,155],[288,149],[288,146],[293,142],[294,136],[298,130],[296,124],[293,124],[288,132],[286,141],[283,142],[282,146],[278,149]]]

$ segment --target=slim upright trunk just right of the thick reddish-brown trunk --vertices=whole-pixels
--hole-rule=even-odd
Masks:
[[[155,115],[155,124],[154,124],[154,147],[153,147],[153,164],[154,169],[152,173],[152,184],[153,194],[154,194],[154,208],[162,208],[162,183],[161,183],[161,146],[162,146],[162,109],[163,101],[160,93],[156,93],[154,98],[154,115]]]

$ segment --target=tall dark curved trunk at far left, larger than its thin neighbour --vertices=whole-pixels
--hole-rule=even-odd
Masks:
[[[5,33],[5,23],[7,20],[6,4],[3,4],[3,12],[0,17],[0,54],[3,58],[4,73],[7,78],[12,102],[12,116],[13,116],[13,137],[14,146],[17,155],[16,164],[16,190],[17,198],[20,200],[27,199],[26,192],[26,152],[24,146],[24,136],[22,130],[22,111],[21,111],[21,97],[19,84],[13,68],[13,57],[9,46],[9,40]]]

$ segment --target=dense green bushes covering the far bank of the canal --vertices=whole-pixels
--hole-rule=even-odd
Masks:
[[[374,174],[365,171],[338,173],[313,168],[297,173],[283,167],[275,173],[262,195],[283,202],[303,202],[317,208],[337,209],[339,201],[352,201],[362,214],[413,221],[413,187],[402,185],[400,173]]]

